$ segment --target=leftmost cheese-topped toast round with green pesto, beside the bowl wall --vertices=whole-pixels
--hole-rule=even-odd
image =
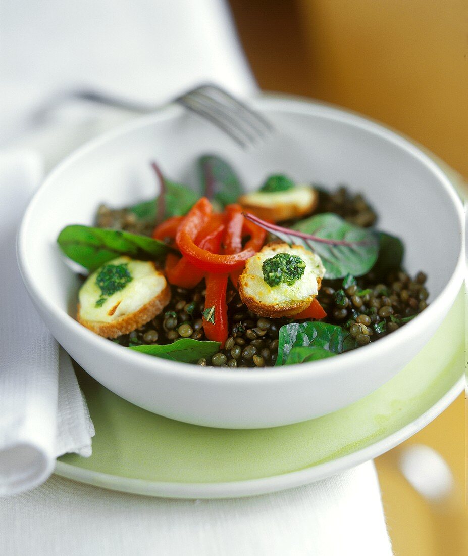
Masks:
[[[112,287],[103,291],[98,284],[103,270],[109,267],[118,267],[123,272],[114,292]],[[116,338],[159,315],[170,301],[170,287],[154,262],[118,257],[88,277],[79,290],[78,300],[78,322],[100,336]]]

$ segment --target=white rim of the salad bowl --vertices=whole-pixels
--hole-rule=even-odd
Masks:
[[[139,366],[149,373],[157,371],[158,373],[174,376],[174,373],[177,372],[184,378],[198,378],[200,380],[208,378],[210,381],[227,381],[229,377],[230,380],[234,380],[236,382],[240,381],[252,384],[263,383],[265,380],[264,377],[268,376],[268,381],[271,383],[271,381],[283,382],[300,379],[305,374],[308,376],[314,375],[315,377],[336,373],[339,374],[341,370],[346,370],[346,368],[351,366],[353,362],[356,363],[360,360],[361,363],[367,364],[369,360],[374,359],[374,357],[378,356],[380,352],[397,349],[399,345],[405,342],[405,335],[408,336],[406,339],[407,341],[412,336],[422,334],[426,328],[425,323],[431,319],[432,315],[436,316],[437,314],[440,314],[440,312],[444,312],[444,307],[451,306],[452,303],[449,303],[449,300],[452,299],[453,301],[455,299],[464,278],[464,209],[462,201],[457,195],[452,181],[447,173],[442,170],[434,159],[420,150],[420,148],[408,138],[400,135],[400,133],[391,130],[381,123],[375,122],[370,118],[344,108],[278,93],[255,95],[249,98],[249,102],[258,108],[258,110],[272,110],[280,113],[307,113],[308,115],[314,115],[327,120],[334,120],[337,123],[344,123],[345,125],[358,127],[363,131],[379,136],[383,140],[388,141],[397,147],[403,148],[437,177],[437,181],[450,198],[458,216],[457,220],[460,230],[460,248],[454,271],[439,295],[437,295],[424,310],[424,318],[421,318],[422,315],[418,315],[415,319],[408,322],[404,326],[404,329],[392,332],[392,334],[381,338],[379,342],[366,346],[366,349],[364,350],[353,350],[348,353],[340,354],[338,360],[333,358],[332,360],[325,359],[313,361],[311,363],[299,363],[278,367],[273,366],[261,369],[254,368],[249,369],[244,373],[239,372],[239,369],[197,367],[197,365],[191,363],[181,363],[179,361],[155,358],[154,356],[142,354],[138,351],[129,350],[127,347],[110,342],[107,338],[99,336],[91,330],[88,330],[86,327],[80,325],[78,321],[73,319],[68,312],[60,309],[54,305],[53,302],[49,302],[47,297],[43,296],[41,288],[35,283],[34,276],[29,271],[27,260],[27,235],[29,221],[32,218],[34,208],[39,202],[43,191],[46,190],[48,184],[54,180],[56,175],[59,175],[59,173],[61,173],[64,169],[72,165],[74,161],[87,155],[88,152],[93,151],[95,148],[119,137],[123,137],[132,131],[138,130],[139,128],[147,127],[152,124],[156,125],[159,122],[177,117],[183,112],[183,108],[174,104],[162,106],[155,112],[139,116],[130,122],[117,126],[112,130],[84,143],[84,145],[74,150],[54,168],[52,168],[52,170],[44,178],[41,186],[38,188],[36,193],[34,193],[28,203],[26,211],[24,212],[17,235],[16,246],[19,270],[27,291],[33,301],[41,306],[44,311],[51,312],[56,319],[62,321],[63,326],[66,327],[71,334],[81,335],[83,340],[90,342],[94,349],[104,351],[110,356],[117,356],[120,354],[120,358],[122,358],[123,362],[128,365]],[[120,351],[118,352],[115,350]],[[194,373],[194,366],[197,367],[197,373]]]

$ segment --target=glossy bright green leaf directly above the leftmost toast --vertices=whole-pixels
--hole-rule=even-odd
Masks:
[[[57,237],[64,254],[90,271],[121,255],[132,259],[160,259],[170,251],[162,241],[120,230],[66,226]]]

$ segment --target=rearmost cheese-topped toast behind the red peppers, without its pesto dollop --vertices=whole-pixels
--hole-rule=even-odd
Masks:
[[[243,208],[271,222],[301,218],[315,210],[318,192],[308,185],[297,185],[288,191],[245,193],[238,199]]]

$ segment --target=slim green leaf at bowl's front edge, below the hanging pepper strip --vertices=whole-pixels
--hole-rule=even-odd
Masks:
[[[154,355],[170,361],[181,363],[197,363],[199,359],[209,359],[219,351],[219,342],[194,340],[193,338],[180,338],[172,344],[131,346],[130,349]]]

